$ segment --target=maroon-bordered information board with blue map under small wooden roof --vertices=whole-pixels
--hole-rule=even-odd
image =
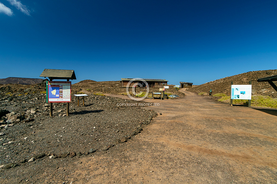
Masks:
[[[46,98],[48,103],[71,102],[71,82],[47,81]]]

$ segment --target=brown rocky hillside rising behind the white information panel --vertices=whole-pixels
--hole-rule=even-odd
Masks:
[[[273,98],[277,98],[277,92],[273,89],[273,87],[271,87],[271,85],[268,82],[257,82],[258,78],[270,77],[272,75],[277,75],[277,70],[260,70],[246,72],[207,82],[205,84],[194,86],[187,90],[200,93],[209,92],[209,90],[212,89],[213,94],[224,93],[230,95],[231,81],[234,81],[234,85],[249,84],[249,81],[252,81],[252,95],[266,95]]]

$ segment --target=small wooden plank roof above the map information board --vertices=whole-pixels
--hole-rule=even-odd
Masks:
[[[57,70],[57,69],[44,69],[40,77],[48,77],[49,79],[76,79],[74,70]]]

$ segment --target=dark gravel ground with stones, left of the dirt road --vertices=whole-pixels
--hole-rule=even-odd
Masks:
[[[41,175],[45,169],[59,170],[57,164],[72,164],[79,157],[119,149],[157,116],[138,106],[118,106],[137,103],[133,100],[89,95],[85,106],[81,100],[79,107],[77,98],[72,97],[70,116],[65,116],[65,103],[53,103],[53,116],[49,117],[45,94],[9,98],[0,99],[0,112],[10,112],[2,116],[0,125],[0,183],[44,183]],[[59,172],[66,173],[64,169]],[[64,182],[66,174],[59,172],[55,181]]]

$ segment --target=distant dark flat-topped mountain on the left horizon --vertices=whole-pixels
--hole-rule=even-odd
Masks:
[[[41,78],[20,78],[20,77],[8,77],[1,78],[0,84],[38,84],[41,83]]]

